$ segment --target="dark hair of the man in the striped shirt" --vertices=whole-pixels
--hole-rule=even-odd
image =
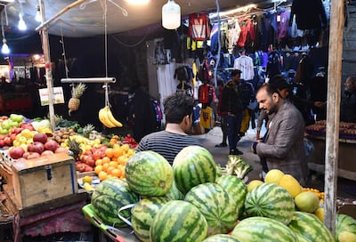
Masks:
[[[173,93],[166,97],[163,103],[165,107],[166,123],[179,124],[183,117],[191,116],[194,100],[185,93]]]

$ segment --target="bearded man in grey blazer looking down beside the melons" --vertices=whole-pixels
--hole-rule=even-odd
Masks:
[[[264,142],[253,143],[252,151],[267,160],[268,169],[289,173],[302,185],[305,184],[308,166],[305,159],[303,117],[295,106],[284,100],[274,85],[263,85],[256,94],[260,109],[274,114]]]

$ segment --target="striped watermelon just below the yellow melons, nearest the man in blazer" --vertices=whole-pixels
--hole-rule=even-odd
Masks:
[[[288,224],[295,212],[289,192],[275,183],[263,183],[247,193],[245,211],[249,216],[263,216]]]

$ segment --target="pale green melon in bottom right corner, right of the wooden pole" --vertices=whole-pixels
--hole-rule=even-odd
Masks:
[[[335,234],[336,241],[356,241],[356,220],[346,214],[336,214]]]

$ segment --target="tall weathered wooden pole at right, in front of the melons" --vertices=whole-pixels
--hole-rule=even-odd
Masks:
[[[331,0],[328,47],[328,109],[325,160],[325,225],[335,235],[344,1]]]

